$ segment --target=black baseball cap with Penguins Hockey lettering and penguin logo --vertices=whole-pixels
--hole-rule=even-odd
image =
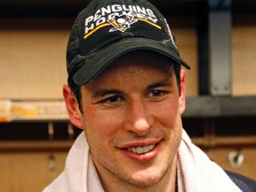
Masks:
[[[162,53],[190,69],[180,58],[167,21],[146,0],[93,0],[77,16],[68,39],[68,78],[87,84],[126,52]]]

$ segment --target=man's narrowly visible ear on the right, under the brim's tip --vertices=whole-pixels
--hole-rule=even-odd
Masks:
[[[186,108],[186,85],[185,85],[185,70],[180,69],[180,98],[179,98],[180,114],[183,114]]]

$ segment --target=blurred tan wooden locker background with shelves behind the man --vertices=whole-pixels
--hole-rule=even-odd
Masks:
[[[1,191],[41,191],[64,167],[80,132],[62,100],[66,48],[76,14],[89,2],[0,2]],[[224,169],[256,180],[256,2],[150,2],[192,67],[185,130]]]

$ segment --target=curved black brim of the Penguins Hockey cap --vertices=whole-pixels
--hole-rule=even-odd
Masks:
[[[86,64],[83,64],[81,68],[76,71],[73,76],[74,82],[78,85],[87,84],[93,78],[98,76],[104,68],[108,67],[112,61],[116,60],[124,53],[134,50],[150,50],[162,53],[177,64],[190,69],[188,64],[180,59],[178,53],[172,51],[172,48],[168,48],[164,44],[157,43],[150,39],[133,37],[120,40],[119,42],[111,44],[107,48],[84,58]]]

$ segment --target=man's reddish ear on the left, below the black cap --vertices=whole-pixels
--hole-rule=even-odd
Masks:
[[[65,84],[63,86],[63,97],[66,103],[66,108],[68,110],[68,116],[69,120],[72,124],[74,124],[76,127],[83,129],[83,123],[82,123],[82,114],[79,109],[79,104],[76,100],[76,96],[71,91],[68,84]]]

